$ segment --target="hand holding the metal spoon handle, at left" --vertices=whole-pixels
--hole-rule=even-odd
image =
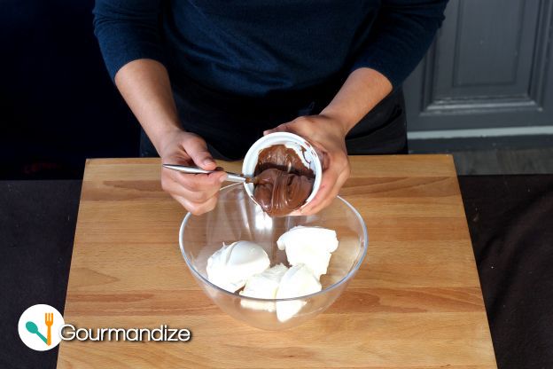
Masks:
[[[182,164],[214,170],[217,165],[207,151],[206,141],[191,132],[175,130],[165,136],[158,149],[164,164]],[[227,174],[187,174],[161,169],[161,187],[193,215],[212,210]]]

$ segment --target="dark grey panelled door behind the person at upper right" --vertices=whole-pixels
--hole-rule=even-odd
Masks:
[[[552,0],[451,0],[404,84],[409,139],[553,134]]]

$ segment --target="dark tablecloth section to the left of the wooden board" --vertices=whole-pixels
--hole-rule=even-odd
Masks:
[[[47,303],[63,313],[81,181],[0,181],[0,368],[55,368],[58,348],[19,339],[19,316]]]

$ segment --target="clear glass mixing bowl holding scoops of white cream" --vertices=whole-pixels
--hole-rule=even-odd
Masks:
[[[228,292],[207,280],[207,259],[223,242],[253,241],[265,249],[271,266],[287,265],[285,251],[278,249],[277,239],[296,225],[320,226],[337,233],[339,247],[332,253],[327,273],[321,276],[320,292],[290,299],[258,299]],[[179,242],[192,275],[221,310],[250,326],[271,330],[298,326],[331,306],[361,266],[368,246],[362,217],[340,197],[313,216],[271,218],[249,198],[242,184],[223,187],[214,210],[201,216],[184,216]],[[279,304],[299,311],[281,321],[277,318]]]

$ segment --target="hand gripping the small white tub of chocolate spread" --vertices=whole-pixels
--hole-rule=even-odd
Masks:
[[[263,135],[273,132],[291,132],[304,137],[315,147],[323,165],[319,191],[313,200],[300,209],[300,215],[315,214],[329,206],[350,174],[344,125],[330,115],[308,115],[281,124],[273,130],[266,130]]]

